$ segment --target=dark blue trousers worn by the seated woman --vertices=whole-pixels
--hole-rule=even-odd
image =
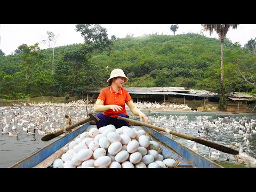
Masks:
[[[123,113],[119,114],[118,116],[129,118],[128,115],[125,115]],[[119,120],[117,119],[117,117],[109,117],[107,115],[103,115],[102,113],[98,113],[97,117],[100,119],[100,121],[96,123],[98,129],[102,126],[107,126],[109,124],[114,125],[116,129],[122,126],[129,126],[129,122]]]

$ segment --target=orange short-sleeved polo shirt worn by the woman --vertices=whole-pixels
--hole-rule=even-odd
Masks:
[[[124,88],[120,88],[118,92],[115,92],[112,86],[108,86],[100,91],[97,100],[103,101],[103,105],[118,105],[123,107],[121,111],[113,111],[112,109],[109,109],[103,112],[104,115],[117,117],[118,114],[121,113],[127,115],[125,103],[131,102],[132,98],[128,91],[126,91]]]

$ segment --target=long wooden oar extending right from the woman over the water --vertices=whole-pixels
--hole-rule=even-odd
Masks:
[[[179,132],[176,132],[176,131],[172,131],[172,130],[164,128],[164,127],[159,127],[159,126],[156,126],[156,125],[150,125],[150,124],[145,123],[145,122],[140,122],[140,121],[136,121],[136,120],[133,120],[133,119],[130,119],[130,118],[121,117],[121,116],[118,116],[117,118],[120,119],[120,120],[123,120],[125,122],[130,122],[130,123],[137,124],[137,125],[147,126],[149,128],[152,128],[152,129],[155,129],[155,130],[159,130],[159,131],[165,131],[167,133],[176,135],[178,137],[181,137],[181,138],[184,138],[184,139],[188,139],[188,140],[191,140],[191,141],[195,141],[195,142],[201,143],[201,144],[203,144],[205,146],[217,149],[217,150],[222,151],[222,152],[227,153],[227,154],[238,155],[238,153],[239,153],[237,150],[234,150],[232,148],[229,148],[229,147],[226,147],[226,146],[222,146],[222,145],[219,145],[217,143],[214,143],[214,142],[211,142],[211,141],[207,141],[207,140],[204,140],[204,139],[196,138],[196,137],[193,137],[193,136],[190,136],[190,135],[187,135],[187,134],[183,134],[183,133],[179,133]]]

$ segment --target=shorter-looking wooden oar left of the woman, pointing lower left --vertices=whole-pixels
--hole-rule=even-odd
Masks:
[[[89,113],[88,114],[89,117],[86,117],[85,119],[77,122],[77,123],[74,123],[74,124],[71,124],[69,126],[66,127],[66,131],[70,131],[71,129],[74,129],[75,127],[79,126],[79,125],[83,125],[87,122],[90,122],[92,120],[94,120],[95,122],[98,122],[100,119],[94,115],[93,113]],[[55,138],[55,137],[58,137],[59,135],[65,133],[65,128],[61,129],[61,130],[58,130],[58,131],[54,131],[52,133],[49,133],[47,135],[45,135],[44,137],[41,138],[42,141],[50,141],[51,139]]]

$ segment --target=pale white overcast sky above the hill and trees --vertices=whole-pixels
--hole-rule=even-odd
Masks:
[[[171,25],[175,24],[102,24],[101,26],[106,28],[109,38],[112,35],[124,38],[128,34],[134,37],[155,33],[173,35],[170,30]],[[30,46],[39,43],[41,49],[47,49],[49,46],[42,42],[46,39],[47,31],[53,32],[57,37],[55,47],[84,43],[75,26],[76,24],[0,24],[0,49],[5,55],[14,53],[22,44]],[[201,24],[178,24],[178,26],[175,35],[196,33],[219,38],[215,32],[210,36],[209,31],[204,31]],[[250,39],[256,38],[256,24],[240,24],[237,29],[229,29],[227,38],[233,43],[238,42],[244,46]]]

